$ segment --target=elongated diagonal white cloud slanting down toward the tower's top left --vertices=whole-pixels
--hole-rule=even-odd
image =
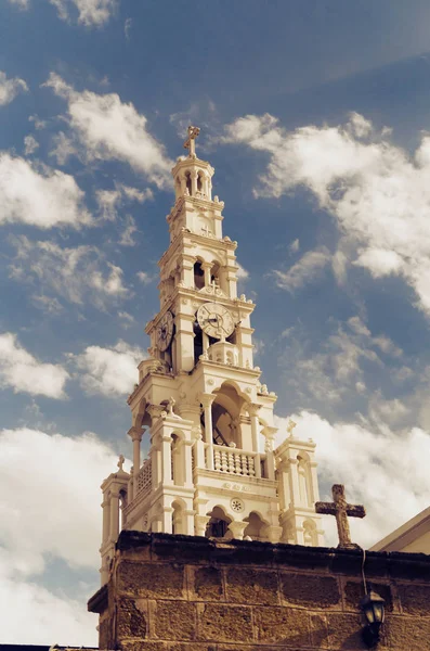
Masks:
[[[173,163],[147,130],[147,119],[116,93],[78,92],[51,73],[44,84],[68,103],[69,125],[89,159],[122,161],[157,187],[171,184]]]

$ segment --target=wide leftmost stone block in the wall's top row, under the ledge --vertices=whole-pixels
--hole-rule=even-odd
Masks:
[[[147,599],[184,599],[184,566],[178,563],[133,563],[118,567],[118,591]]]

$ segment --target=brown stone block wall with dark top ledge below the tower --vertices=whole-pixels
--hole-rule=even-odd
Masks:
[[[125,651],[365,649],[361,550],[122,532],[89,601],[100,648]],[[378,649],[430,650],[430,556],[368,552],[386,600]]]

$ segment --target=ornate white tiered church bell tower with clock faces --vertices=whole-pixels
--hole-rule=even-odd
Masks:
[[[323,541],[315,445],[274,449],[276,395],[253,366],[250,316],[237,296],[236,242],[222,234],[213,168],[188,155],[172,169],[170,245],[159,261],[160,309],[146,326],[149,358],[128,399],[133,467],[102,484],[102,583],[121,529],[317,546]],[[141,460],[141,442],[151,441]]]

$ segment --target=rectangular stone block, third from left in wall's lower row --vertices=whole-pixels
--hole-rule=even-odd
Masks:
[[[240,605],[205,603],[199,607],[198,639],[219,642],[251,642],[251,609]]]

